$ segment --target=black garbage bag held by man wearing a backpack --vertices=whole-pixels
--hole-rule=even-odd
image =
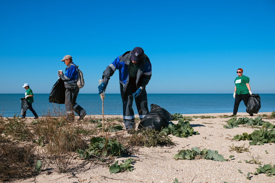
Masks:
[[[64,81],[59,78],[57,82],[53,85],[53,89],[51,90],[49,96],[49,102],[65,104],[65,91],[66,88],[64,86]]]

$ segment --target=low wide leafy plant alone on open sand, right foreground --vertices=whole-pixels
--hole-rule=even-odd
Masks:
[[[218,154],[218,151],[212,151],[210,149],[198,149],[198,147],[193,147],[191,150],[183,149],[178,154],[176,154],[174,159],[188,159],[192,160],[196,156],[200,156],[203,159],[211,159],[213,161],[227,161],[228,159],[224,159],[221,154]]]

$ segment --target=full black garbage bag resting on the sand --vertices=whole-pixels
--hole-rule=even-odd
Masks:
[[[172,115],[165,109],[156,104],[151,104],[150,113],[145,115],[139,123],[138,129],[148,128],[161,131],[161,128],[168,127],[172,121]]]

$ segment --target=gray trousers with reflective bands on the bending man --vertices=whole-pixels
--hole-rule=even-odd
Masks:
[[[138,110],[139,118],[142,119],[145,115],[149,113],[148,104],[147,104],[147,93],[145,88],[141,91],[141,94],[134,98],[132,95],[137,90],[136,80],[129,80],[127,89],[125,91],[123,103],[123,122],[126,129],[135,128],[135,116],[133,110],[133,99],[135,99],[136,107]]]

